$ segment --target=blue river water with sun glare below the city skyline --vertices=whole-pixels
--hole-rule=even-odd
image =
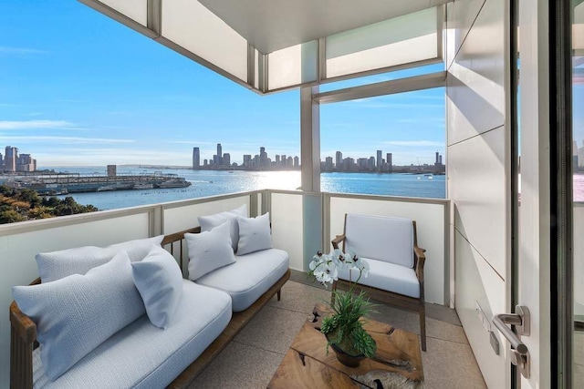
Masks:
[[[97,167],[50,167],[48,169],[84,175],[105,174],[103,168]],[[154,171],[161,170],[118,167],[118,174],[152,174]],[[163,169],[162,173],[177,174],[192,182],[193,185],[187,188],[174,189],[74,193],[69,196],[81,204],[92,204],[98,207],[99,210],[113,210],[255,189],[295,190],[300,187],[299,171]],[[320,181],[321,190],[326,192],[437,199],[443,199],[446,193],[444,176],[433,176],[430,179],[424,175],[402,173],[322,173]]]

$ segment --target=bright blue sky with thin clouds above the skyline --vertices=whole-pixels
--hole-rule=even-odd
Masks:
[[[443,89],[322,106],[322,159],[433,163],[443,115]],[[260,146],[299,156],[299,116],[297,90],[259,96],[76,1],[0,3],[0,152],[39,167],[190,165],[216,143],[237,163]]]

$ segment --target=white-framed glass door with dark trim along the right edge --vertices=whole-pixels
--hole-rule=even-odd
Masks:
[[[584,148],[582,153],[578,148],[578,143],[584,140],[584,87],[581,86],[584,84],[584,29],[579,27],[579,23],[584,24],[584,5],[581,0],[573,0],[571,5],[566,2],[566,6],[571,6],[575,26],[572,28],[567,21],[568,28],[563,35],[566,38],[572,31],[574,49],[569,53],[572,57],[567,60],[565,70],[568,77],[570,71],[574,77],[572,85],[567,86],[568,91],[562,92],[561,84],[558,90],[550,87],[564,68],[554,57],[561,46],[556,46],[551,30],[556,26],[549,23],[549,15],[553,15],[555,9],[548,8],[561,3],[547,0],[519,0],[516,3],[520,36],[517,107],[521,200],[517,208],[518,243],[513,270],[516,302],[527,306],[530,333],[520,336],[520,342],[528,350],[528,373],[510,386],[524,389],[584,386],[584,353],[579,351],[581,344],[573,347],[574,339],[577,343],[584,343],[584,339],[579,340],[579,333],[574,333],[572,317],[573,313],[578,315],[584,306],[579,305],[584,302],[581,286],[584,208],[579,204],[579,201],[584,201]],[[561,25],[557,17],[553,20]],[[550,67],[550,63],[558,68]],[[553,72],[550,72],[551,68],[554,68]],[[558,109],[555,97],[568,103],[566,107],[572,109],[566,112]],[[562,121],[568,124],[562,124]],[[569,131],[570,126],[571,136],[570,132],[562,133],[562,128]],[[578,143],[572,145],[570,138]],[[561,168],[562,163],[565,170]],[[562,171],[566,172],[565,180]],[[562,207],[561,200],[565,201],[565,207]],[[562,230],[563,236],[568,237],[565,241]],[[576,277],[573,290],[572,277]],[[564,303],[569,304],[564,307]],[[576,353],[572,353],[572,349]],[[513,381],[515,377],[511,379]]]

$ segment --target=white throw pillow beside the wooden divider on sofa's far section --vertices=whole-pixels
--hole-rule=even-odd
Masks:
[[[229,221],[210,231],[185,233],[184,239],[189,248],[189,279],[193,281],[235,262],[229,236]]]

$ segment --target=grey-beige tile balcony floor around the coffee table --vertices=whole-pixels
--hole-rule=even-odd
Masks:
[[[192,388],[265,388],[289,345],[310,316],[315,302],[328,302],[330,292],[302,283],[296,274],[249,322],[192,384]],[[418,315],[380,305],[371,317],[419,334]],[[422,353],[425,387],[485,388],[463,327],[454,310],[429,306],[427,348]]]

